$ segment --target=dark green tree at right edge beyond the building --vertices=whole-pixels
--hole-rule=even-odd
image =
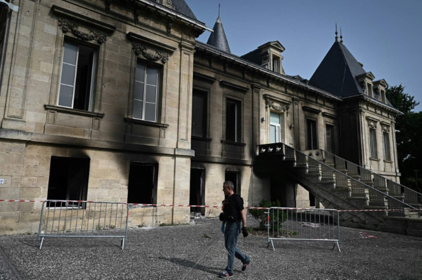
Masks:
[[[422,187],[422,112],[412,110],[419,105],[414,97],[404,92],[404,86],[388,86],[386,97],[403,115],[396,117],[396,144],[398,167],[402,184],[421,191]],[[414,170],[420,170],[418,180]]]

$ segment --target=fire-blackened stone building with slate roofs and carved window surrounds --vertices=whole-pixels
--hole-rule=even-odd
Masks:
[[[220,205],[232,180],[246,205],[346,207],[262,156],[269,143],[399,183],[400,112],[338,38],[308,81],[286,75],[279,41],[231,54],[219,17],[196,41],[210,29],[184,0],[15,2],[0,3],[0,199]],[[0,203],[0,234],[38,231],[40,203]],[[130,220],[191,211],[220,210],[139,207]]]

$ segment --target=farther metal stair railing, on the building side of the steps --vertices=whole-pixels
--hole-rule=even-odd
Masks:
[[[379,190],[385,190],[384,192],[392,197],[403,197],[403,202],[405,202],[406,204],[422,203],[421,193],[414,191],[411,188],[403,186],[399,183],[396,183],[393,180],[385,178],[384,176],[381,176],[360,165],[354,164],[353,162],[349,162],[346,159],[342,159],[341,157],[336,156],[333,153],[324,150],[321,151],[323,154],[325,154],[325,156],[323,156],[323,158],[326,158],[325,161],[328,161],[330,164],[333,164],[333,166],[338,170],[344,170],[345,172],[347,172],[347,175],[352,175],[352,177],[360,176],[360,181],[363,181],[365,183],[370,183],[373,180],[375,188]]]

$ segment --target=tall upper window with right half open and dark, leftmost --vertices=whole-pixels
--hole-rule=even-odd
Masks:
[[[92,110],[97,52],[94,48],[65,42],[57,104]]]

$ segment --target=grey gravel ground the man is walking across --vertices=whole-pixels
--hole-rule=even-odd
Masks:
[[[248,217],[248,226],[255,225]],[[190,225],[128,231],[119,239],[0,237],[0,279],[217,279],[225,268],[221,222],[197,219]],[[340,248],[333,242],[274,241],[241,235],[238,247],[252,263],[236,279],[422,279],[422,238],[340,228]],[[270,246],[271,247],[271,246]]]

